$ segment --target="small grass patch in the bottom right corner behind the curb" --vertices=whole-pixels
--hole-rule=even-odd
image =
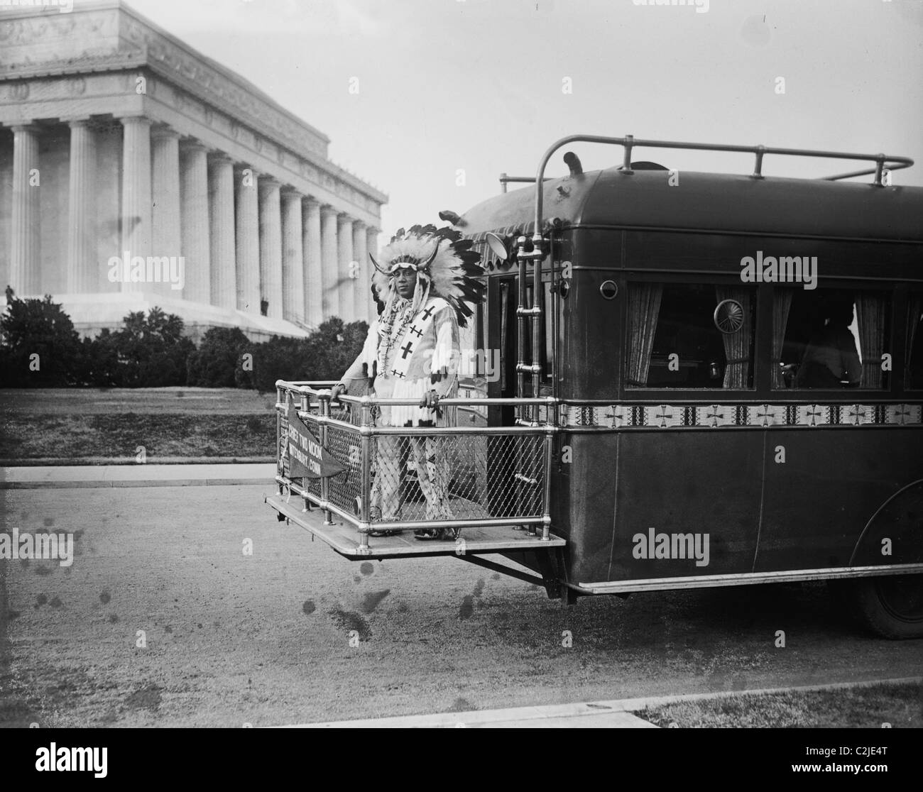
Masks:
[[[893,728],[923,726],[923,686],[871,685],[677,702],[641,710],[657,726],[680,728]]]

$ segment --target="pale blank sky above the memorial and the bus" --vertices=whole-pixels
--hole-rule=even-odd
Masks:
[[[533,175],[544,150],[575,133],[883,151],[917,161],[895,184],[923,185],[921,0],[710,0],[705,13],[632,0],[129,5],[330,137],[334,162],[390,195],[382,242],[496,195],[502,171]],[[588,171],[621,158],[571,148]],[[561,153],[549,174],[567,172]],[[752,168],[749,155],[641,149],[634,159]],[[763,173],[859,167],[768,157]]]

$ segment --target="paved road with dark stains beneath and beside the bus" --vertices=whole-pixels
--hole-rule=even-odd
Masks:
[[[923,667],[920,642],[858,631],[822,584],[567,609],[458,558],[346,561],[276,522],[268,491],[0,492],[7,532],[76,534],[70,567],[0,560],[0,725],[270,726]]]

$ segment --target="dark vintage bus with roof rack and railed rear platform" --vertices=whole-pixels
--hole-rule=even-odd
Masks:
[[[583,172],[569,151],[569,173],[545,177],[577,142],[620,147],[621,162]],[[640,148],[746,153],[754,168],[688,172],[635,161]],[[783,156],[864,165],[762,173]],[[445,402],[454,424],[378,427],[374,397],[279,381],[270,506],[344,558],[451,556],[566,604],[825,580],[871,630],[923,637],[923,187],[892,176],[912,164],[558,140],[534,177],[504,174],[496,197],[440,214],[485,267],[473,363]],[[336,474],[289,475],[290,419]],[[370,535],[389,434],[450,457],[454,541]],[[389,527],[430,527],[410,462],[402,477]]]

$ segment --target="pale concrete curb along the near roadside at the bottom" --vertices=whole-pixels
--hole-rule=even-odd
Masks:
[[[587,727],[617,726],[622,728],[659,728],[635,715],[645,709],[678,702],[707,699],[764,696],[773,693],[810,692],[814,690],[848,690],[876,685],[921,684],[923,677],[869,679],[858,682],[833,682],[821,685],[789,688],[754,688],[752,690],[720,690],[712,693],[685,693],[675,696],[650,696],[640,699],[617,699],[602,702],[580,702],[548,706],[515,707],[503,710],[473,710],[464,713],[434,713],[401,715],[363,720],[329,721],[325,723],[270,726],[270,728],[460,728],[460,727]]]

